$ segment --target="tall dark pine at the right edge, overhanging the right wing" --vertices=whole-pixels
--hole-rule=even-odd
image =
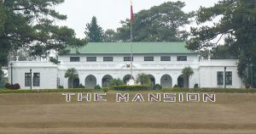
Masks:
[[[192,50],[217,47],[219,43],[212,43],[212,39],[225,38],[226,47],[239,59],[238,74],[246,81],[247,66],[253,64],[253,70],[256,69],[256,3],[254,0],[222,0],[213,7],[201,7],[196,16],[197,24],[212,21],[217,16],[221,19],[213,26],[191,28],[192,37],[187,47]]]

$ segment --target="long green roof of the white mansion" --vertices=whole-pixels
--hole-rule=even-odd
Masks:
[[[132,42],[134,54],[195,54],[185,47],[185,42]],[[71,49],[70,54],[75,54]],[[89,42],[79,48],[81,54],[129,54],[131,42]]]

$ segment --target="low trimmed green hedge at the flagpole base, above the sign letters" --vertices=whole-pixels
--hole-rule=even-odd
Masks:
[[[137,85],[137,86],[114,86],[112,87],[113,90],[116,91],[148,91],[150,90],[150,86],[146,85]]]

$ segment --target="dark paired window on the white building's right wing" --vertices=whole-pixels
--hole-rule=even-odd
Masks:
[[[224,85],[224,71],[217,72],[217,84]],[[225,72],[225,85],[232,85],[232,72]]]

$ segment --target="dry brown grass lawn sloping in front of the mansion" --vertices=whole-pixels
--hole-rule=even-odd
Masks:
[[[217,93],[215,103],[115,103],[115,92],[106,98],[89,103],[73,97],[67,103],[61,92],[3,93],[0,133],[256,133],[253,93]]]

